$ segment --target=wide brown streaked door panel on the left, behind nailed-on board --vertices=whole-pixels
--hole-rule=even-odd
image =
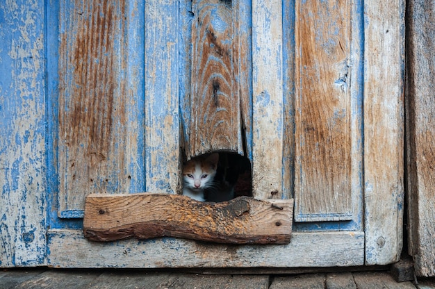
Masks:
[[[122,0],[60,3],[60,217],[81,217],[90,192],[143,189],[140,75],[127,79],[140,72],[127,63],[140,59],[129,59],[126,48],[127,7]]]

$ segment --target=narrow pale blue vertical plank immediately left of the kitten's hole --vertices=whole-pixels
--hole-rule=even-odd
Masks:
[[[181,190],[179,4],[145,3],[145,167],[148,192]]]

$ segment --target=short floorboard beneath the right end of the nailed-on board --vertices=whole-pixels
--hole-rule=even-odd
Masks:
[[[272,281],[270,289],[324,289],[325,274],[302,274],[296,276],[277,277]]]

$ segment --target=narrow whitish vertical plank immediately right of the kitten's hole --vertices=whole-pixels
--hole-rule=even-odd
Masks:
[[[282,36],[281,1],[252,1],[252,195],[256,199],[283,197]]]

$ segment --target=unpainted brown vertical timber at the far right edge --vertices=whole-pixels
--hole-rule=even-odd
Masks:
[[[409,249],[417,276],[435,276],[435,9],[409,2],[407,160]]]

